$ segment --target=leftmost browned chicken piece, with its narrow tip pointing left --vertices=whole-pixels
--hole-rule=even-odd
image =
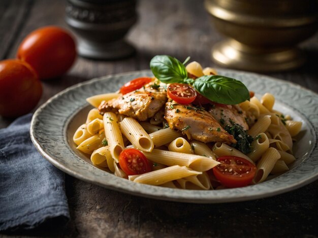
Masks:
[[[108,102],[102,102],[98,109],[101,114],[118,110],[120,114],[146,121],[160,110],[166,101],[165,92],[133,91]]]

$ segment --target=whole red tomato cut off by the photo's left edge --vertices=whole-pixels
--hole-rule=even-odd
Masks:
[[[0,115],[17,117],[32,110],[42,95],[37,73],[21,60],[0,61]]]

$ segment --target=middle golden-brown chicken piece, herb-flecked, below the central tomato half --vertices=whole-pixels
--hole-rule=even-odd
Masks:
[[[236,143],[232,135],[226,132],[213,116],[203,109],[168,101],[165,107],[165,119],[171,129],[179,129],[188,139],[202,142]]]

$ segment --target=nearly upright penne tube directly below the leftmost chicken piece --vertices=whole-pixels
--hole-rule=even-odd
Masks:
[[[110,153],[118,163],[120,152],[124,148],[122,135],[119,129],[117,116],[113,112],[105,112],[103,116],[105,136],[109,145]]]

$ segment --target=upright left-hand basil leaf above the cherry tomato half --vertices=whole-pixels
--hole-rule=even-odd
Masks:
[[[169,55],[156,55],[150,61],[153,75],[163,83],[182,83],[187,78],[184,65]]]

